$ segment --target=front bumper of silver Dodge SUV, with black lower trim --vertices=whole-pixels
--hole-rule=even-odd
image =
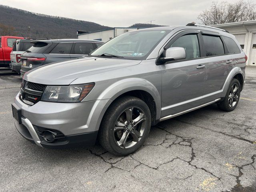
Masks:
[[[23,103],[17,96],[14,103],[21,109],[22,124],[15,121],[18,132],[27,140],[45,148],[69,148],[94,145],[102,112],[109,100],[79,103],[39,101],[33,106]],[[44,133],[56,133],[49,142]]]

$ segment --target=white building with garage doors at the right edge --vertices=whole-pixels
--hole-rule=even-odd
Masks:
[[[233,34],[248,56],[246,65],[256,66],[256,20],[212,25]]]

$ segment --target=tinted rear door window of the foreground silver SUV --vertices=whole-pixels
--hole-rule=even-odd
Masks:
[[[203,40],[204,40],[204,50],[206,52],[206,56],[225,54],[224,46],[220,37],[203,35]]]

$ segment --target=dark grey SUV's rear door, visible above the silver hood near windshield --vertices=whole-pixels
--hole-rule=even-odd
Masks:
[[[70,53],[70,58],[77,58],[80,56],[88,55],[95,48],[96,46],[93,42],[74,42]]]

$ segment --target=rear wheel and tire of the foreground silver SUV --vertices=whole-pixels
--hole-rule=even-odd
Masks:
[[[233,90],[233,91],[232,91]],[[228,90],[224,100],[218,103],[218,108],[224,111],[233,111],[240,98],[241,86],[237,79],[233,79],[228,86]]]

